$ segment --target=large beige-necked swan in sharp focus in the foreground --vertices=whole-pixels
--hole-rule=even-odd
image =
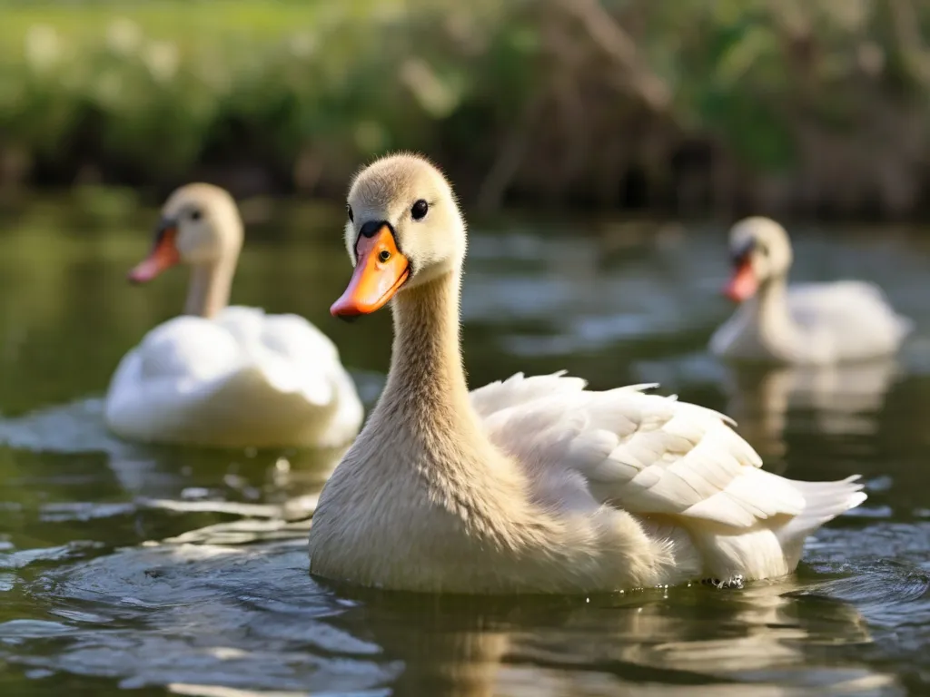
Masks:
[[[465,224],[445,178],[388,157],[355,178],[349,205],[355,270],[331,312],[393,298],[392,362],[313,515],[312,573],[461,593],[738,583],[791,572],[807,535],[865,499],[856,477],[760,469],[724,416],[645,386],[514,375],[470,393]]]

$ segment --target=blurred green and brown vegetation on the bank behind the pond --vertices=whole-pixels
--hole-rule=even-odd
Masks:
[[[383,151],[466,200],[925,213],[919,0],[0,0],[0,185],[341,197]]]

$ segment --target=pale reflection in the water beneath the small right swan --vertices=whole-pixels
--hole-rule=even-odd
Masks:
[[[778,457],[785,453],[790,411],[810,411],[809,423],[820,434],[874,433],[897,375],[893,359],[828,366],[728,365],[725,413],[759,454]]]

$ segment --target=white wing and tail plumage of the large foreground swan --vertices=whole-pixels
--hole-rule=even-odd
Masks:
[[[760,469],[727,417],[644,393],[652,387],[595,392],[562,373],[518,374],[473,390],[472,407],[490,440],[562,505],[671,517],[715,578],[790,572],[807,535],[865,500],[857,476],[806,482]]]

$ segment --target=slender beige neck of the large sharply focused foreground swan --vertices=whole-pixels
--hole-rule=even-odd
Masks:
[[[452,270],[395,297],[391,371],[379,406],[403,404],[432,420],[469,413],[459,346],[460,287],[459,270]]]

